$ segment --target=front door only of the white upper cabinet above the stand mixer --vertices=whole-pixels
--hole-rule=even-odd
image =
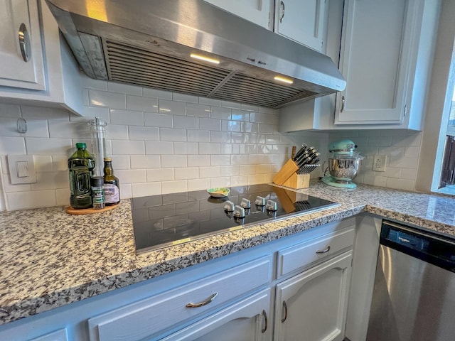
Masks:
[[[347,86],[337,94],[335,124],[402,122],[420,1],[345,1],[340,68]]]

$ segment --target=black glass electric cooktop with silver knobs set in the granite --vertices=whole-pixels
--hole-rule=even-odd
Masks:
[[[232,187],[220,198],[196,190],[133,197],[131,203],[137,254],[338,205],[268,184]]]

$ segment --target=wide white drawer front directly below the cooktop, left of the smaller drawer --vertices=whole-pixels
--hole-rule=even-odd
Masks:
[[[88,320],[90,340],[142,340],[161,330],[197,320],[198,315],[268,283],[271,277],[269,257],[222,271],[171,291],[112,310]],[[188,303],[208,304],[188,308]]]

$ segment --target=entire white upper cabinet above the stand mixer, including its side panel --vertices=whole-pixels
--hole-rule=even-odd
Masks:
[[[422,129],[438,3],[345,1],[335,124]]]

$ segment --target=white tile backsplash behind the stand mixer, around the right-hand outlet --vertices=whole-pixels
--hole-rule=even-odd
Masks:
[[[422,145],[421,131],[360,130],[337,131],[329,135],[331,142],[339,139],[352,140],[358,146],[356,150],[365,157],[360,163],[355,183],[415,190]],[[387,155],[385,172],[373,171],[375,154]]]

